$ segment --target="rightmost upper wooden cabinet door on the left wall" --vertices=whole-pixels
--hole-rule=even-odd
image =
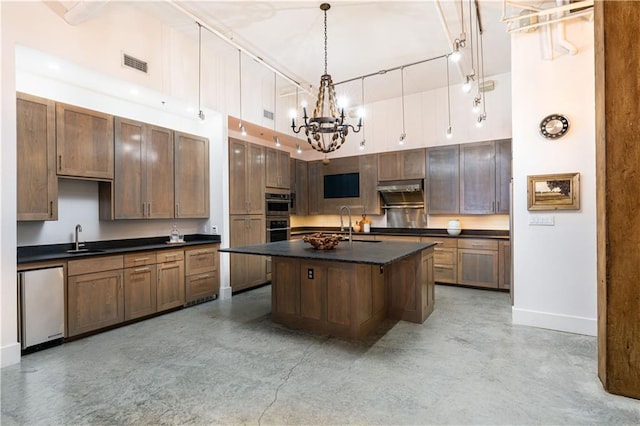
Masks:
[[[175,132],[175,217],[209,217],[209,140]]]

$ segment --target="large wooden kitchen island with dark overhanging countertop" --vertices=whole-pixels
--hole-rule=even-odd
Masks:
[[[294,328],[358,338],[386,318],[422,323],[433,312],[435,243],[303,241],[220,249],[272,257],[271,315]]]

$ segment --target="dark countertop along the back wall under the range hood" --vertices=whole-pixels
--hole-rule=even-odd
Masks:
[[[327,234],[348,234],[348,231],[340,231],[340,227],[330,226],[303,226],[291,229],[291,235],[306,235],[314,232]],[[411,237],[440,237],[440,238],[487,238],[508,240],[509,231],[493,229],[463,229],[460,235],[449,235],[446,229],[435,228],[371,228],[371,232],[354,232],[354,238],[358,235],[396,235]]]

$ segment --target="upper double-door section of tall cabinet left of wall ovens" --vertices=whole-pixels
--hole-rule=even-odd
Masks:
[[[264,147],[229,138],[229,214],[264,214],[264,188]]]

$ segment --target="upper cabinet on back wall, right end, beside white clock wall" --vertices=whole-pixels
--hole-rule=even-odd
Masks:
[[[511,141],[460,146],[460,213],[509,213]]]

